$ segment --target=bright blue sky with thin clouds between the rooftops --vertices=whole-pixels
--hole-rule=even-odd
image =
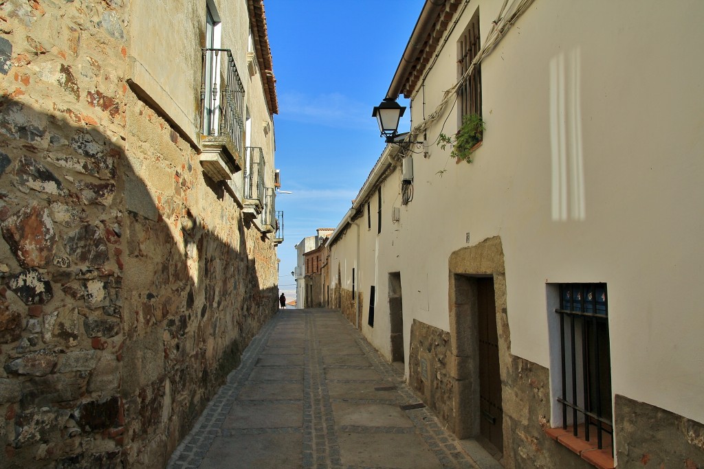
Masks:
[[[276,200],[284,210],[279,289],[289,299],[294,245],[339,224],[384,150],[372,108],[389,89],[423,4],[264,2],[279,99],[276,167],[282,190],[292,192]]]

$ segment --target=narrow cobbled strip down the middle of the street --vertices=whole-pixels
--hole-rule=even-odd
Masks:
[[[303,377],[303,467],[339,468],[340,447],[335,435],[325,381],[325,368],[315,332],[315,316],[306,316],[305,375]]]

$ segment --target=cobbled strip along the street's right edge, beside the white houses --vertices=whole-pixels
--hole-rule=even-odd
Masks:
[[[397,391],[400,394],[398,404],[415,404],[420,399],[410,390],[403,379],[403,375],[392,364],[386,361],[377,350],[370,345],[359,333],[356,341],[363,350],[367,359],[372,362],[377,372],[381,373],[386,380],[396,383]],[[446,468],[468,468],[481,469],[479,465],[463,451],[458,439],[449,432],[444,431],[438,423],[437,418],[427,407],[406,411],[406,414],[413,422],[415,432],[421,435],[430,449],[435,453],[438,461]]]

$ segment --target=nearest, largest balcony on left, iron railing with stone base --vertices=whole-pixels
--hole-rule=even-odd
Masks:
[[[230,49],[202,49],[201,165],[216,181],[241,169],[244,86]]]

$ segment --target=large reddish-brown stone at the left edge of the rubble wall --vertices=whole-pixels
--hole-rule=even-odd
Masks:
[[[21,266],[43,267],[54,258],[56,231],[49,209],[39,205],[23,207],[1,225],[2,236]]]

